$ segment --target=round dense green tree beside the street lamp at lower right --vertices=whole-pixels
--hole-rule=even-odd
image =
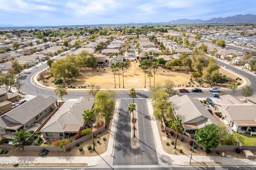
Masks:
[[[196,131],[196,142],[201,143],[206,149],[216,148],[219,144],[217,137],[219,136],[219,128],[217,125],[210,124],[205,125],[203,128],[200,128]]]

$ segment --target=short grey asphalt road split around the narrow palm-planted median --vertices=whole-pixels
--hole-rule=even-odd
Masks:
[[[131,113],[128,106],[132,99],[121,99],[116,130],[113,165],[157,165],[154,136],[145,99],[135,99],[138,113],[139,148],[131,148]]]

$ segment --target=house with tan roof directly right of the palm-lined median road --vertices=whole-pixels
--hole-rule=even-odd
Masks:
[[[193,136],[196,130],[205,125],[218,125],[218,121],[198,99],[188,95],[174,95],[169,100],[172,102],[174,116],[182,120],[184,132]]]

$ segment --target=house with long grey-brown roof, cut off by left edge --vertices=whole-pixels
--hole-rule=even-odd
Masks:
[[[37,96],[30,101],[12,109],[0,116],[0,135],[12,135],[20,129],[32,128],[40,125],[41,119],[55,109],[57,99],[53,96]],[[37,129],[37,128],[36,128]]]

